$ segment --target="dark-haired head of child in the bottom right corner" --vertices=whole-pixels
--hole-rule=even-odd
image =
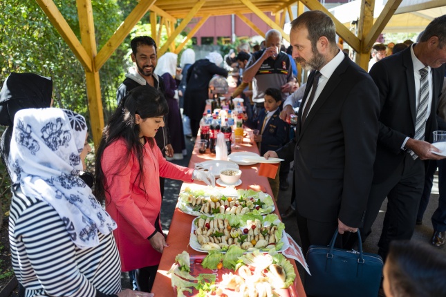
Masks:
[[[446,259],[424,242],[395,240],[386,259],[390,289],[396,297],[446,296]]]

